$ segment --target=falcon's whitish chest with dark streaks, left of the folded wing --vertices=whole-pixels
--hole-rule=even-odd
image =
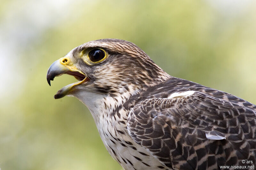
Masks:
[[[130,103],[129,105],[132,105]],[[164,166],[146,149],[132,140],[127,131],[127,118],[129,109],[124,106],[116,113],[105,113],[97,125],[100,137],[109,154],[125,169],[163,169]]]

